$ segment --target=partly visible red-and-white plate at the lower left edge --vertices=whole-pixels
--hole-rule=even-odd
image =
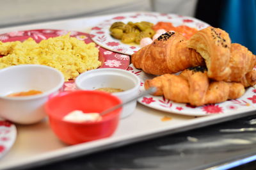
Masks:
[[[0,118],[0,158],[12,148],[17,135],[16,127],[10,121]]]

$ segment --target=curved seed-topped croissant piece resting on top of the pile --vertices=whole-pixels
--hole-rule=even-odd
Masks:
[[[205,59],[208,77],[216,81],[223,81],[230,75],[230,46],[228,33],[211,26],[198,31],[188,40],[188,47]]]

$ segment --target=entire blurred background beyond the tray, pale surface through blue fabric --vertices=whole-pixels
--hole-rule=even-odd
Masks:
[[[227,31],[256,54],[256,0],[0,0],[0,28],[122,12],[176,13]]]

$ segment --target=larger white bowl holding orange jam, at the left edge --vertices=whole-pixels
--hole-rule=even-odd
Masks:
[[[0,70],[0,79],[0,116],[20,124],[36,123],[45,118],[45,102],[64,83],[60,71],[44,65],[10,66]],[[31,89],[42,91],[42,94],[6,97]]]

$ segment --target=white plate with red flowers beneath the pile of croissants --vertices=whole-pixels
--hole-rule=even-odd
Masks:
[[[130,65],[127,70],[135,73],[138,75],[138,77],[140,77],[141,91],[144,90],[145,80],[152,79],[154,77],[153,75],[149,75],[141,70],[134,68],[133,65]],[[246,93],[241,98],[237,98],[236,100],[228,100],[220,104],[209,104],[200,107],[193,107],[189,104],[179,104],[172,102],[171,100],[167,100],[164,97],[155,97],[152,95],[147,95],[143,98],[140,98],[138,99],[138,102],[140,102],[140,104],[146,105],[147,107],[152,107],[160,111],[184,114],[188,116],[207,116],[210,114],[223,114],[248,109],[252,109],[253,111],[256,109],[256,89],[246,89]]]

